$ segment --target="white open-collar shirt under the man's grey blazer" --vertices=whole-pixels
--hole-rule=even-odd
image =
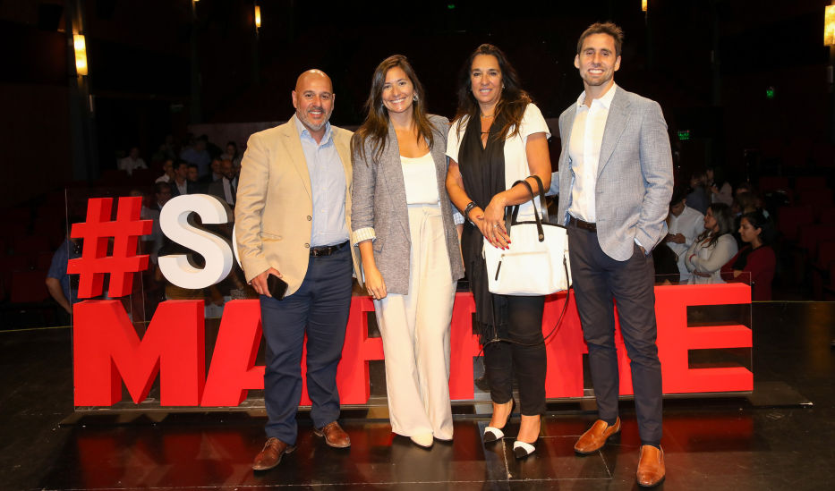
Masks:
[[[577,98],[574,125],[568,141],[568,157],[574,171],[574,185],[571,187],[571,206],[568,213],[584,222],[597,221],[595,188],[601,158],[603,131],[609,118],[609,106],[615,97],[618,85],[592,99],[592,106],[585,105],[585,91]]]

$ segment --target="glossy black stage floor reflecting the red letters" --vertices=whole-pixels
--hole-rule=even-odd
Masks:
[[[759,303],[753,315],[754,395],[665,401],[660,488],[835,488],[835,303]],[[259,474],[250,470],[263,444],[257,414],[111,414],[61,425],[72,413],[70,343],[66,328],[0,331],[2,489],[636,487],[630,402],[622,435],[587,457],[572,447],[592,414],[550,413],[525,461],[510,452],[513,425],[504,442],[481,444],[485,419],[457,417],[455,440],[426,451],[384,421],[349,418],[353,445],[334,450],[302,416],[298,450]]]

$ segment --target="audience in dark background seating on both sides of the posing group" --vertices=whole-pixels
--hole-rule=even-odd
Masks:
[[[182,143],[169,135],[145,157],[136,146],[125,148],[92,189],[77,186],[74,192],[47,196],[37,207],[12,210],[13,224],[0,237],[4,317],[10,311],[20,315],[20,305],[29,313],[39,306],[48,318],[40,316],[38,322],[69,322],[78,280],[67,275],[66,261],[81,254],[82,244],[69,237],[67,226],[83,221],[87,198],[99,196],[141,196],[141,216],[154,223],[140,242],[140,252],[150,257],[149,270],[135,275],[136,293],[123,299],[134,320],[149,319],[159,301],[204,299],[207,317],[214,317],[225,301],[254,296],[237,264],[225,281],[200,291],[170,284],[158,268],[160,255],[178,252],[191,254],[200,267],[199,254],[162,233],[160,211],[169,199],[196,193],[234,209],[243,148],[234,141],[218,146],[205,135],[187,135]],[[677,181],[669,234],[652,254],[659,284],[745,282],[752,285],[754,301],[772,300],[775,287],[799,290],[814,300],[835,298],[835,204],[826,177],[734,182],[715,165],[679,175]],[[231,239],[233,220],[230,213],[229,224],[200,226]]]

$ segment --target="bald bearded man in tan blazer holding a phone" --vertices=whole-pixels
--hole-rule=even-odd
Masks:
[[[324,72],[303,72],[292,98],[289,122],[250,137],[235,207],[238,250],[246,279],[260,294],[267,342],[268,440],[253,470],[272,469],[295,449],[305,334],[314,433],[333,447],[351,444],[337,422],[336,377],[352,268],[359,270],[348,242],[352,132],[328,123],[334,94]],[[269,275],[286,282],[283,300],[270,295]]]

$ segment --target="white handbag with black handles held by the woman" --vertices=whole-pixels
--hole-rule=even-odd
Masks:
[[[552,224],[548,209],[544,207],[545,193],[538,176],[540,203],[536,209],[533,189],[524,183],[531,193],[534,221],[518,222],[519,205],[505,210],[505,228],[510,233],[507,250],[490,244],[486,238],[481,254],[487,263],[488,289],[502,295],[549,295],[562,292],[571,286],[568,267],[568,235],[566,227]],[[541,214],[541,215],[540,215]]]

